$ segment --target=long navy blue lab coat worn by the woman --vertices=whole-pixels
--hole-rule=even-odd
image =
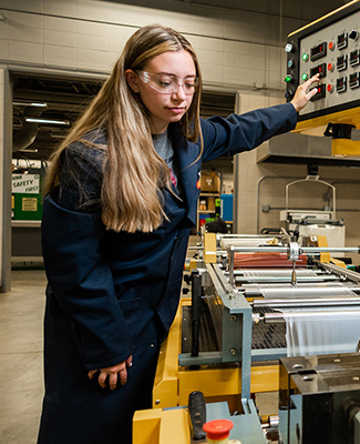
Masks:
[[[106,230],[100,205],[76,206],[78,194],[64,167],[60,188],[43,202],[49,284],[39,444],[131,443],[134,411],[152,406],[161,342],[178,305],[188,234],[196,223],[202,162],[250,150],[294,129],[296,121],[290,103],[202,120],[204,152],[194,164],[199,142],[187,142],[179,125],[171,124],[182,200],[163,190],[168,220],[152,233]],[[99,199],[99,152],[76,143],[66,150],[65,159],[76,164],[89,195]],[[119,364],[130,355],[133,365],[124,386],[110,391],[101,389],[96,379],[89,380],[90,370]]]

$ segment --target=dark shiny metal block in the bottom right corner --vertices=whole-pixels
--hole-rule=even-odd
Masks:
[[[279,443],[360,443],[360,354],[280,359]]]

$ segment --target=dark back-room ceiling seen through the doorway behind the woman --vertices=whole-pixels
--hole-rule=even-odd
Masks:
[[[13,73],[12,83],[13,159],[47,160],[100,90],[102,80]],[[234,93],[205,91],[200,114],[204,118],[214,114],[226,117],[234,107]],[[27,118],[66,123],[32,123]]]

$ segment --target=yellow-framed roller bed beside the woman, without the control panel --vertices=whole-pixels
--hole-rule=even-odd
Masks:
[[[189,394],[200,391],[209,417],[212,408],[226,403],[220,411],[235,424],[230,437],[266,443],[253,397],[278,390],[278,360],[289,354],[289,320],[310,316],[321,324],[323,317],[335,323],[343,315],[344,322],[348,316],[360,322],[360,273],[331,263],[329,255],[359,248],[321,246],[315,236],[310,242],[312,246],[299,245],[286,233],[204,235],[198,258],[189,264],[192,297],[183,297],[161,352],[153,391],[157,408],[152,412],[157,427],[162,418],[167,423],[166,415],[186,416],[186,410],[172,410],[187,406]],[[359,336],[360,331],[348,350],[348,341],[337,340],[326,352],[354,352]],[[311,354],[322,352],[321,344],[310,345]],[[137,412],[137,425],[144,414]],[[247,426],[236,425],[240,423]],[[187,433],[189,440],[188,427]]]

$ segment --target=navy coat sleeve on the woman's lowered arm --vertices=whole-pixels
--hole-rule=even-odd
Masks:
[[[96,189],[96,174],[89,174],[84,160],[79,165],[78,179]],[[42,246],[50,297],[70,319],[84,369],[103,369],[132,354],[131,332],[115,295],[101,212],[76,209],[76,192],[66,174],[61,182],[66,182],[60,184],[61,195],[55,189],[43,202]]]

